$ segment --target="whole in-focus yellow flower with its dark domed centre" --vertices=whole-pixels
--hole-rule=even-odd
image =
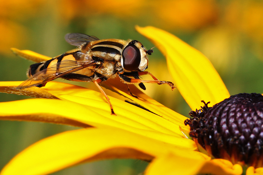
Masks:
[[[1,92],[38,97],[0,103],[2,120],[44,121],[84,128],[29,146],[2,169],[1,175],[49,174],[109,158],[150,161],[145,175],[263,173],[262,108],[257,108],[261,95],[230,97],[218,73],[199,51],[163,30],[137,30],[160,46],[178,90],[193,109],[192,118],[166,108],[135,87],[131,91],[138,99],[130,96],[118,79],[108,81],[108,86],[152,113],[110,97],[117,114],[112,116],[102,94],[71,84],[48,82],[42,88],[17,90],[21,82],[1,82]],[[32,60],[47,59],[31,51],[15,52]],[[202,104],[204,107],[197,110]],[[25,106],[30,106],[30,110]],[[236,135],[231,135],[232,131]],[[256,145],[255,151],[242,147],[241,142]]]

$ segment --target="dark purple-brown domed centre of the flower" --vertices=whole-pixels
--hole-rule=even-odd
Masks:
[[[191,111],[190,136],[210,156],[232,163],[262,167],[263,96],[240,93],[208,107]]]

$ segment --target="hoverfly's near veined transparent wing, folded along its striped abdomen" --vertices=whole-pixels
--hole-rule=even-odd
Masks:
[[[64,60],[47,69],[44,69],[34,74],[32,77],[29,77],[26,81],[24,81],[19,86],[17,86],[17,89],[24,89],[24,88],[37,86],[39,84],[47,83],[48,81],[59,78],[63,75],[67,75],[69,73],[96,64],[97,62],[94,60],[87,60],[87,61]]]

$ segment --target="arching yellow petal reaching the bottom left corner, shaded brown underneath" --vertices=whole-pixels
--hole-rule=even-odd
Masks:
[[[169,144],[101,125],[43,139],[14,157],[1,175],[49,174],[81,162],[105,158],[151,160],[174,149]]]

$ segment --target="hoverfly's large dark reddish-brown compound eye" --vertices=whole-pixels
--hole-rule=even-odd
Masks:
[[[122,52],[123,67],[127,71],[135,71],[141,62],[141,54],[138,47],[134,44],[128,44]]]

